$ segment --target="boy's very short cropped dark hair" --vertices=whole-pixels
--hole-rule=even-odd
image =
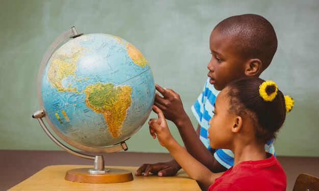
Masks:
[[[244,58],[258,58],[262,71],[271,63],[277,50],[277,36],[271,23],[260,15],[244,14],[228,17],[214,28],[231,36],[234,47]]]

